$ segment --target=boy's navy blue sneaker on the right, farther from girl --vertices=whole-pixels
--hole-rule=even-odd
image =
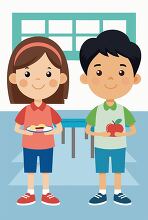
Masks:
[[[125,206],[132,204],[131,200],[123,193],[114,194],[114,203]]]

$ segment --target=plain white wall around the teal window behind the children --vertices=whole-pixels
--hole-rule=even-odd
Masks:
[[[142,50],[142,63],[139,73],[142,82],[134,86],[132,91],[119,100],[120,103],[134,111],[147,111],[148,73],[147,73],[147,25],[148,13],[145,0],[1,0],[0,3],[0,111],[13,111],[22,105],[10,105],[7,93],[7,65],[11,54],[11,15],[14,12],[136,12],[137,14],[137,43]],[[91,109],[102,100],[93,95],[87,86],[80,84],[79,77],[82,69],[78,61],[69,61],[70,92],[65,105],[55,105],[55,109]]]

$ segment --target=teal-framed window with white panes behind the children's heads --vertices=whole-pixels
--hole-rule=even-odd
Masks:
[[[135,13],[13,13],[12,47],[33,36],[53,39],[67,59],[78,60],[85,40],[100,32],[117,29],[136,41]]]

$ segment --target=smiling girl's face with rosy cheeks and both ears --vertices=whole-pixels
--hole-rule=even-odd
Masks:
[[[67,76],[61,73],[60,69],[55,67],[44,53],[37,62],[10,74],[9,81],[16,84],[28,98],[41,100],[52,96],[60,84],[67,81]]]

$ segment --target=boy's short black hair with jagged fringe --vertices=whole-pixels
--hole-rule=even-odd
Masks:
[[[80,49],[80,63],[83,71],[87,74],[87,69],[94,57],[101,53],[105,56],[122,55],[129,59],[133,67],[134,76],[141,61],[140,48],[130,41],[128,36],[118,30],[107,30],[100,33],[96,38],[86,40]]]

